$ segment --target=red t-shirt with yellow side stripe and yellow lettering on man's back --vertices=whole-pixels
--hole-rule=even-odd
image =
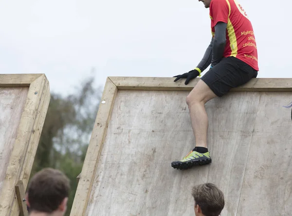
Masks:
[[[237,0],[211,0],[210,18],[213,37],[217,22],[227,23],[223,57],[234,56],[258,70],[253,26]]]

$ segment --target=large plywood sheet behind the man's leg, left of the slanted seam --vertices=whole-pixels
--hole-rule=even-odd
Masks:
[[[195,146],[186,91],[119,90],[86,215],[193,215],[191,187],[216,183],[222,216],[237,213],[260,93],[233,92],[206,104],[212,164],[177,170]]]

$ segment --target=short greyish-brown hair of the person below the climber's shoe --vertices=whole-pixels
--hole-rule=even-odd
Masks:
[[[213,183],[203,183],[193,187],[195,205],[199,205],[204,216],[219,216],[224,208],[223,192]]]

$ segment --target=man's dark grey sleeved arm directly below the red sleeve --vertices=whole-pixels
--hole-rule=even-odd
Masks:
[[[226,27],[227,23],[225,22],[218,22],[215,26],[211,66],[217,65],[223,57],[226,45]]]

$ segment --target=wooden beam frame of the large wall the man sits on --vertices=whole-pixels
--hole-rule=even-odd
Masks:
[[[70,216],[84,216],[86,214],[96,167],[118,90],[191,91],[200,78],[192,80],[188,85],[184,84],[184,80],[173,82],[174,78],[158,77],[107,78],[82,172],[78,175],[78,186]],[[292,78],[253,78],[249,83],[231,89],[231,91],[292,92]]]

